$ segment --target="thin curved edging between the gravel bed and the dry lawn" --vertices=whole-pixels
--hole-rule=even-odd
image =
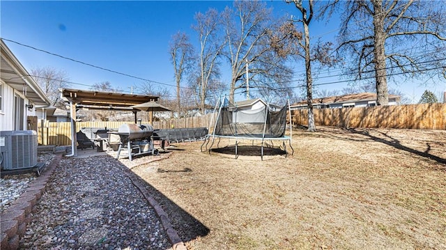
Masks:
[[[178,236],[178,233],[175,231],[175,229],[172,227],[172,224],[169,221],[169,218],[167,217],[167,213],[164,212],[164,210],[161,208],[160,204],[155,201],[155,199],[151,196],[150,192],[144,187],[144,185],[139,182],[139,177],[130,171],[130,169],[124,170],[125,175],[132,181],[133,185],[139,189],[139,192],[146,198],[146,201],[152,206],[152,208],[155,210],[155,213],[157,214],[157,217],[160,219],[162,227],[167,233],[167,237],[169,238],[169,241],[172,244],[172,248],[174,250],[186,250],[186,246],[181,240],[180,236]]]

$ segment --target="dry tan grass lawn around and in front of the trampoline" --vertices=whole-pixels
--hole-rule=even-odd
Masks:
[[[264,161],[176,146],[132,171],[190,249],[446,248],[445,131],[296,130]]]

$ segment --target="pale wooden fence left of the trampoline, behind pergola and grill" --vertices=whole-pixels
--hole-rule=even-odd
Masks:
[[[213,114],[206,116],[176,118],[169,120],[159,120],[153,122],[155,129],[169,129],[169,128],[182,128],[182,127],[209,127],[209,119]],[[214,116],[215,123],[215,116]],[[81,130],[82,127],[101,127],[101,128],[114,128],[132,123],[132,122],[77,122],[76,132]],[[148,124],[148,122],[141,122],[142,124]],[[50,123],[40,122],[38,123],[38,143],[40,145],[71,145],[71,123]]]

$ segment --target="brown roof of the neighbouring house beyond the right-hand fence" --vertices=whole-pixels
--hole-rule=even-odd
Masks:
[[[390,98],[399,99],[399,95],[389,95]],[[334,104],[334,103],[344,103],[344,102],[359,102],[359,101],[374,101],[376,100],[375,93],[358,93],[349,95],[337,95],[330,97],[322,97],[313,99],[313,104]],[[297,102],[291,105],[292,107],[307,106],[307,101]]]

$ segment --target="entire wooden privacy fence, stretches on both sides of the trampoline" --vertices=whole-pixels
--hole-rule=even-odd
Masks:
[[[307,109],[291,111],[293,125],[308,125]],[[286,116],[287,118],[289,116]],[[216,114],[205,116],[173,118],[153,122],[155,129],[208,127],[210,120],[215,123]],[[333,127],[389,127],[423,130],[446,130],[446,104],[410,104],[344,109],[314,109],[316,126]],[[82,127],[117,129],[132,122],[78,122],[76,131]],[[148,124],[147,121],[141,122]],[[213,128],[210,127],[212,132]],[[70,145],[70,123],[38,123],[38,143],[41,145]]]

